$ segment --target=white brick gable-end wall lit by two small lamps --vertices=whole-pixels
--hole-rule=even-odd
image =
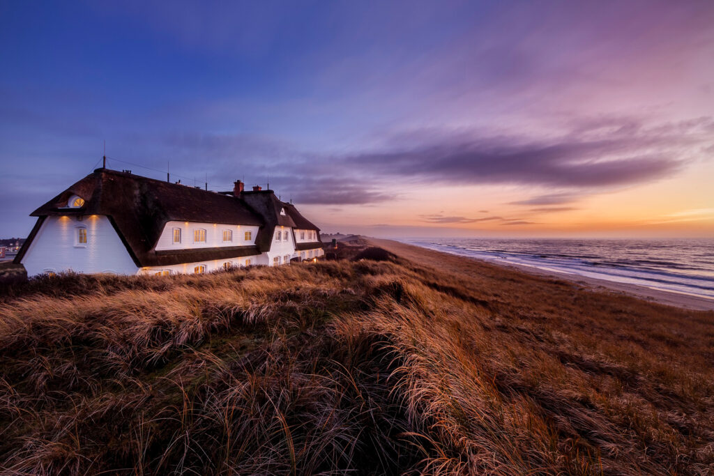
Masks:
[[[86,227],[87,243],[76,244],[79,226]],[[76,217],[49,216],[22,258],[29,276],[40,273],[136,274],[138,268],[121,243],[109,218],[102,215]]]

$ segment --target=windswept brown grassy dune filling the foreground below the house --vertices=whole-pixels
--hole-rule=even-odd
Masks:
[[[714,470],[714,313],[386,258],[6,288],[0,470]]]

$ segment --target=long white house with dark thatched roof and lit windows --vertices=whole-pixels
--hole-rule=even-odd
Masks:
[[[208,273],[323,255],[320,230],[271,190],[214,192],[97,168],[31,216],[27,274]]]

